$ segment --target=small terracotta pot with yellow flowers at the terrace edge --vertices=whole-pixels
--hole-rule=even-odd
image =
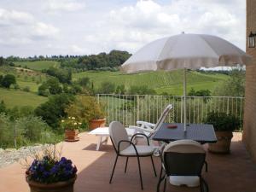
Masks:
[[[74,117],[68,117],[68,119],[61,120],[62,127],[65,130],[65,141],[66,142],[77,142],[79,141],[79,125]]]

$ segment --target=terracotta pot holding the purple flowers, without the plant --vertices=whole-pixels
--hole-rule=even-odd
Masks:
[[[73,192],[73,184],[77,176],[62,182],[57,183],[38,183],[31,181],[26,177],[26,182],[30,187],[31,192]]]

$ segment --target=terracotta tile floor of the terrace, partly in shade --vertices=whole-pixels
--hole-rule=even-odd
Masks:
[[[72,159],[79,170],[74,187],[75,192],[142,191],[135,158],[129,160],[126,174],[124,173],[125,158],[119,158],[113,183],[108,183],[115,154],[109,141],[108,145],[102,146],[100,151],[95,151],[96,139],[95,136],[82,133],[79,142],[63,143],[62,154]],[[231,154],[207,154],[207,161],[209,170],[204,173],[204,177],[211,192],[256,192],[256,165],[250,160],[241,143],[241,133],[236,133],[233,138]],[[144,191],[156,191],[158,178],[154,177],[150,159],[143,158],[141,162]],[[154,163],[159,172],[159,158],[154,157]],[[1,168],[0,192],[28,192],[24,172],[19,163]],[[200,189],[168,185],[166,191],[194,192]]]

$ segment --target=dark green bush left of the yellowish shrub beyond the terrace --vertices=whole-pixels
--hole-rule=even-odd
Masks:
[[[35,114],[54,129],[60,126],[60,119],[67,117],[65,108],[74,99],[73,96],[67,94],[50,96],[48,102],[44,102],[35,109]]]

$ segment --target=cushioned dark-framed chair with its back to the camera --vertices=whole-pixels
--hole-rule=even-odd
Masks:
[[[166,191],[167,178],[173,185],[187,185],[188,187],[200,185],[201,192],[208,191],[208,185],[201,177],[204,164],[207,172],[207,162],[206,151],[200,143],[193,140],[179,140],[169,143],[160,157],[162,167],[157,192],[160,191],[160,183],[164,179],[164,191]]]

